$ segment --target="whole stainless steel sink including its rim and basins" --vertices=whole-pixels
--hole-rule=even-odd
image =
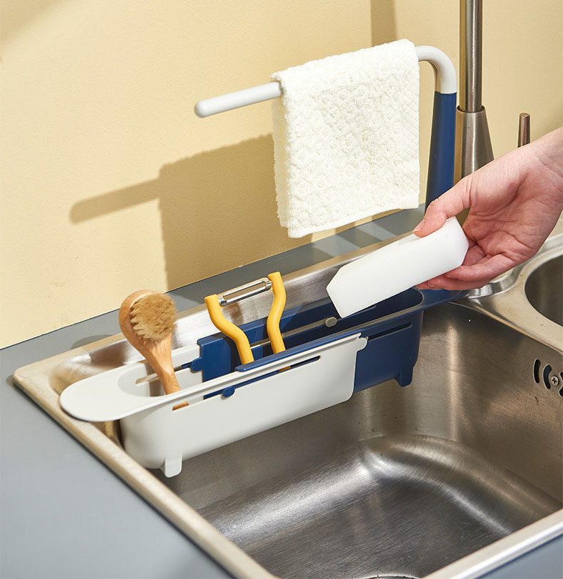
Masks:
[[[288,306],[322,297],[336,267],[364,251],[286,277]],[[561,285],[541,297],[545,264],[560,267],[562,253],[554,235],[472,298],[426,312],[410,386],[374,386],[185,461],[175,478],[125,454],[117,424],[58,405],[68,384],[139,359],[121,336],[15,378],[235,576],[478,576],[562,533],[563,328],[547,315],[562,308]],[[240,324],[268,307],[257,296],[227,315]],[[175,345],[212,332],[201,308],[189,310]]]

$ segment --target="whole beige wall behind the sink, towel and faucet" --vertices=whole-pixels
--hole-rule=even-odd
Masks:
[[[562,123],[562,1],[485,0],[495,154]],[[455,0],[2,0],[0,345],[308,242],[275,212],[269,103],[197,99],[408,37],[458,62]],[[527,39],[525,43],[521,39]],[[431,73],[423,70],[421,154]],[[424,178],[424,177],[423,177]]]

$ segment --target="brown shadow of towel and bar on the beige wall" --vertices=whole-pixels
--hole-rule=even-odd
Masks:
[[[157,199],[167,287],[180,287],[289,248],[277,219],[273,159],[272,135],[200,153],[164,165],[155,180],[76,203],[71,222]]]

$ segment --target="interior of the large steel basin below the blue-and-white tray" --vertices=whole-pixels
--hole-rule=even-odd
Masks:
[[[562,397],[534,382],[538,357],[560,360],[438,307],[410,386],[375,386],[155,476],[274,575],[423,577],[561,508]]]

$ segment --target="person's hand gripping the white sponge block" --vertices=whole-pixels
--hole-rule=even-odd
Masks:
[[[425,237],[470,209],[463,265],[418,285],[470,290],[530,259],[563,210],[563,128],[492,160],[428,205],[415,228]]]

